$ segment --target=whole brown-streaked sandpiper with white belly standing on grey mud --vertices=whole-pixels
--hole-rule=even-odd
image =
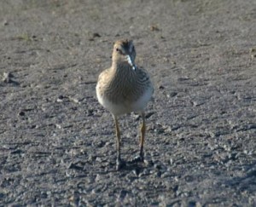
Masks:
[[[149,74],[135,64],[136,50],[132,40],[118,40],[113,44],[112,65],[102,71],[96,83],[99,103],[113,116],[116,135],[116,170],[125,166],[120,155],[119,116],[137,112],[142,117],[140,127],[140,153],[137,161],[144,161],[143,147],[146,132],[145,108],[154,86]]]

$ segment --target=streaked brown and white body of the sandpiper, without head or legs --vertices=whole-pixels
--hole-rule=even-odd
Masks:
[[[143,111],[153,91],[148,72],[119,59],[100,74],[96,86],[99,102],[115,115]]]

